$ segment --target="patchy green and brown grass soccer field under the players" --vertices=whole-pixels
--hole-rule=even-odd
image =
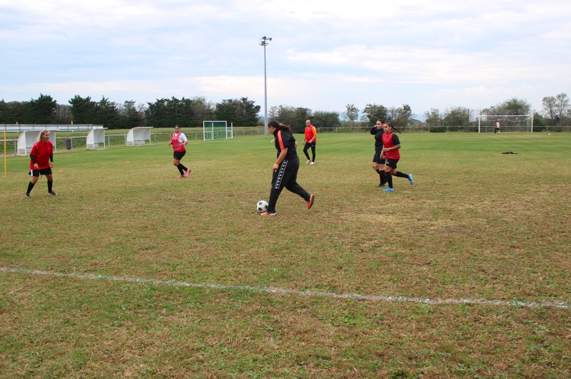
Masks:
[[[373,136],[321,134],[313,208],[260,217],[270,140],[191,142],[186,180],[166,144],[60,152],[31,199],[9,157],[0,377],[571,376],[571,135],[403,134],[385,193]]]

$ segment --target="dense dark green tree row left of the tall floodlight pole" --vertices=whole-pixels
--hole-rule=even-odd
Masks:
[[[203,120],[226,120],[234,126],[258,124],[260,105],[248,98],[208,101],[203,96],[193,98],[161,98],[154,103],[136,104],[133,100],[116,103],[104,96],[92,100],[76,95],[69,104],[58,104],[50,95],[40,94],[29,101],[0,101],[2,124],[92,124],[109,129],[136,126],[155,128],[200,127]]]

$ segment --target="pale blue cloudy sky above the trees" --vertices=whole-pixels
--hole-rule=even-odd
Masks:
[[[0,0],[0,98],[413,113],[571,95],[571,1]]]

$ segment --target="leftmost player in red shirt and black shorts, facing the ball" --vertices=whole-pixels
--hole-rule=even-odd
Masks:
[[[26,191],[26,199],[30,197],[30,191],[36,185],[40,175],[46,175],[48,179],[48,194],[55,196],[56,192],[51,190],[54,184],[54,177],[51,175],[51,167],[54,167],[54,145],[49,140],[49,130],[42,130],[39,141],[34,143],[30,152],[30,175],[31,180]]]

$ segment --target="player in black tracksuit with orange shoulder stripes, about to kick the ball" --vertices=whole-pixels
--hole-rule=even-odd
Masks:
[[[313,205],[314,194],[305,191],[303,187],[298,185],[299,158],[296,148],[298,142],[291,134],[291,128],[288,125],[278,123],[271,120],[268,123],[268,130],[276,137],[276,150],[278,150],[278,159],[273,165],[272,189],[270,191],[270,201],[268,202],[268,211],[263,212],[262,216],[276,215],[276,202],[280,197],[281,191],[285,187],[290,192],[300,195],[308,202],[308,209]]]

